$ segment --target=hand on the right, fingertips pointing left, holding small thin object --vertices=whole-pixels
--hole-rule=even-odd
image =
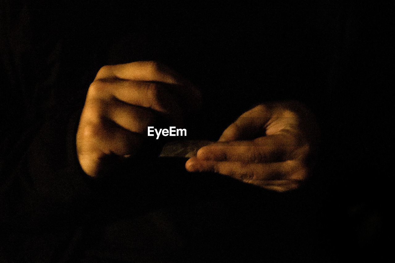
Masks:
[[[232,123],[218,142],[200,148],[185,167],[284,192],[307,178],[317,144],[316,122],[302,104],[259,105]]]

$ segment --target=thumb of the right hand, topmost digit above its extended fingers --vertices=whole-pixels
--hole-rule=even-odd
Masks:
[[[265,127],[271,118],[267,106],[258,105],[243,113],[222,133],[219,142],[246,140],[265,135]],[[262,132],[263,131],[263,132]]]

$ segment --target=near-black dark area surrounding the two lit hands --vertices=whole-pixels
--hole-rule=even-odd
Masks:
[[[378,114],[388,11],[337,1],[0,3],[2,261],[317,262],[343,248],[380,251],[377,222],[361,246],[348,227],[366,211],[384,218],[372,204],[386,191],[359,175],[382,167],[376,153],[389,147]],[[256,103],[307,104],[322,128],[318,172],[285,194],[187,174],[177,159],[132,160],[90,179],[75,153],[87,88],[101,66],[138,60],[159,60],[202,90],[194,138],[218,138]],[[367,210],[345,216],[360,204]]]

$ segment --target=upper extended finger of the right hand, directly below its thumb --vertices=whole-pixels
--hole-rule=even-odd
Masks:
[[[231,162],[278,162],[285,160],[291,151],[284,136],[271,135],[259,140],[216,142],[200,148],[196,157]]]

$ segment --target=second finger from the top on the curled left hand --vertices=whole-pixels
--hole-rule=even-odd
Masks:
[[[118,100],[167,115],[180,113],[174,95],[171,95],[164,84],[158,82],[119,79],[95,80],[89,87],[87,102],[98,99],[103,101]]]

